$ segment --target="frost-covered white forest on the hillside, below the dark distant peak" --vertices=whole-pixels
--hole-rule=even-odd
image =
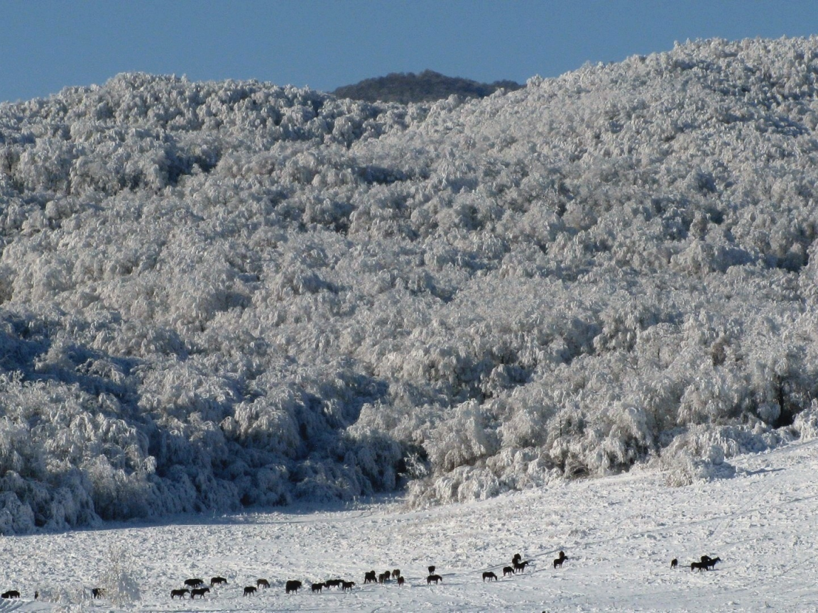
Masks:
[[[0,105],[0,532],[818,432],[818,38],[432,105],[122,74]]]

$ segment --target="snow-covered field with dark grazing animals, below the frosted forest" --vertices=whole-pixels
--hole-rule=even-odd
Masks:
[[[81,611],[814,611],[818,441],[735,459],[735,478],[682,488],[661,475],[566,482],[483,502],[408,511],[360,504],[225,517],[164,526],[4,537],[2,610]],[[552,565],[563,549],[568,561]],[[101,583],[112,551],[133,553],[141,599],[115,606],[81,597]],[[531,565],[502,576],[521,553]],[[702,554],[715,570],[691,572]],[[679,559],[676,570],[670,568]],[[429,564],[443,577],[427,585]],[[406,584],[363,584],[399,568]],[[483,571],[500,579],[483,583]],[[184,579],[227,578],[205,599],[171,600]],[[243,597],[245,585],[270,588]],[[311,593],[341,578],[351,592]],[[285,594],[288,579],[303,581]],[[34,590],[61,602],[34,601]]]

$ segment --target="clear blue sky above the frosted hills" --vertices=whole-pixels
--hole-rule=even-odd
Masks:
[[[818,0],[0,0],[0,101],[145,71],[331,91],[433,69],[523,83],[694,38],[818,34]]]

